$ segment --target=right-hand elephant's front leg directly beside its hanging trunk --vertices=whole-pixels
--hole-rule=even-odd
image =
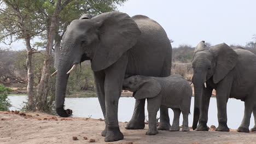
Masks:
[[[199,117],[199,124],[197,125],[196,131],[208,131],[207,121],[208,121],[208,109],[210,104],[210,98],[212,96],[212,88],[203,87],[202,102],[201,102],[201,112]]]

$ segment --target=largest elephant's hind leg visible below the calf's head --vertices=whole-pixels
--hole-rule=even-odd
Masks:
[[[146,99],[136,99],[133,115],[129,123],[126,124],[126,129],[145,128],[145,100]]]

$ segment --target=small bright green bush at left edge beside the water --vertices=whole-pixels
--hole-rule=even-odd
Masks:
[[[8,92],[11,89],[0,85],[0,111],[8,111],[11,106],[10,101],[8,99]]]

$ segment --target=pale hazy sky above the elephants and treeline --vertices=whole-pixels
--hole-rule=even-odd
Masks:
[[[245,45],[256,34],[256,0],[128,0],[118,10],[160,23],[174,40],[172,47],[196,46],[201,40],[212,45]],[[21,50],[25,44],[19,41],[11,47]]]

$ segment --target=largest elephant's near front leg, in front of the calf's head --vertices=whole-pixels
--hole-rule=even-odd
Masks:
[[[118,125],[118,101],[123,87],[126,65],[127,57],[123,55],[117,62],[105,70],[106,142],[124,139],[124,135],[121,133]]]

